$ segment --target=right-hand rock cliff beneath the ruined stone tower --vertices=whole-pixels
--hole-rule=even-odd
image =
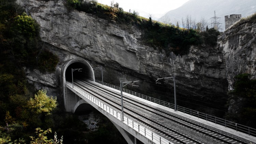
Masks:
[[[229,90],[233,89],[234,76],[249,73],[256,78],[256,21],[255,15],[243,24],[234,24],[219,37],[218,43],[226,59],[226,76]],[[238,22],[241,23],[241,22]]]

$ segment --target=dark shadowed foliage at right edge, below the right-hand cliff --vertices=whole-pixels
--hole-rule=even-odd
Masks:
[[[256,128],[256,80],[244,73],[234,77],[234,89],[229,92],[229,110],[234,113],[227,114],[228,119],[240,124]]]

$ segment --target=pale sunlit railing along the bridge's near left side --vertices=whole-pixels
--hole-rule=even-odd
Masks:
[[[70,82],[66,82],[66,86],[69,89],[73,89],[76,91],[76,94],[80,94],[80,96],[83,98],[86,98],[93,102],[94,104],[98,105],[102,110],[108,112],[118,120],[122,121],[122,114],[119,113],[118,111],[112,109],[110,106],[108,106],[106,103],[98,100],[97,98],[88,95],[85,91],[81,90],[80,88],[76,87],[75,85],[72,85]],[[151,130],[143,127],[142,125],[136,123],[132,119],[124,116],[124,121],[122,121],[125,125],[129,126],[133,130],[139,132],[140,134],[144,135],[148,140],[153,141],[156,144],[173,144],[170,141],[166,140],[165,138],[159,136],[158,134],[152,132]]]

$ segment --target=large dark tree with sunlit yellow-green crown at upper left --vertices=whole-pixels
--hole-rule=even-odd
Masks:
[[[2,41],[3,46],[10,50],[12,58],[18,64],[34,65],[38,51],[39,25],[25,12],[9,19],[10,28],[6,29],[6,37]],[[7,27],[7,26],[6,26]],[[8,26],[9,27],[9,26]]]

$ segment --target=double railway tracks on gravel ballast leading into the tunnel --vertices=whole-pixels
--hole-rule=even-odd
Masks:
[[[81,86],[82,89],[85,91],[89,92],[91,95],[100,95],[96,96],[101,100],[108,101],[111,103],[111,105],[115,109],[119,109],[120,104],[120,94],[118,92],[113,92],[107,88],[101,87],[99,85],[87,82],[85,80],[75,80],[75,84],[78,86]],[[90,89],[86,88],[89,87]],[[95,91],[93,91],[95,90]],[[101,90],[104,92],[104,95],[99,94],[97,90]],[[105,98],[105,96],[108,95],[112,99],[115,100],[110,100],[108,98]],[[176,127],[185,127],[187,130],[192,133],[196,133],[197,135],[201,135],[203,138],[207,137],[207,139],[211,140],[209,143],[227,143],[227,144],[243,144],[243,143],[248,143],[245,141],[241,141],[238,139],[235,139],[231,136],[225,135],[223,133],[214,131],[212,129],[203,127],[201,125],[192,123],[191,121],[182,119],[180,117],[176,117],[172,115],[171,113],[162,111],[160,109],[156,109],[148,104],[144,104],[141,102],[138,102],[138,100],[132,99],[130,97],[124,96],[124,112],[126,115],[129,115],[129,117],[133,118],[134,120],[136,119],[139,121],[141,124],[144,124],[148,128],[153,129],[154,131],[158,131],[161,133],[162,136],[170,137],[170,141],[173,143],[206,143],[202,139],[195,140],[196,138],[192,138],[190,136],[191,134],[184,133],[184,131],[180,131],[179,128],[174,128],[173,126],[171,127],[170,125],[165,124],[164,121],[172,121],[175,123]],[[133,105],[133,106],[130,106]],[[136,108],[134,108],[134,105]],[[142,115],[139,112],[136,111],[149,111],[151,115],[161,117],[160,120],[154,120],[152,119],[152,116],[148,115]],[[138,120],[138,117],[140,120]],[[184,129],[184,128],[183,128]],[[200,133],[200,134],[199,134]],[[192,134],[193,135],[193,134]],[[204,139],[205,140],[205,139]],[[215,141],[215,142],[214,142]]]

